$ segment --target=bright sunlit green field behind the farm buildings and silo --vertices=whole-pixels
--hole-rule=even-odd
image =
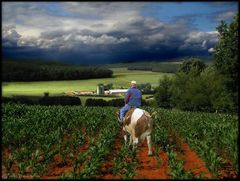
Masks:
[[[3,82],[2,96],[41,96],[44,92],[49,92],[50,95],[59,95],[68,91],[95,91],[97,84],[99,83],[112,83],[115,88],[127,88],[129,87],[129,82],[131,80],[136,80],[138,84],[150,83],[153,87],[156,87],[163,75],[173,75],[171,73],[151,71],[130,71],[124,67],[111,68],[111,70],[114,72],[113,78],[67,81]]]

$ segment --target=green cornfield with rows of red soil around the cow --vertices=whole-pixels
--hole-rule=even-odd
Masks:
[[[238,175],[238,117],[156,111],[152,142],[124,144],[113,107],[2,103],[2,178],[220,179]]]

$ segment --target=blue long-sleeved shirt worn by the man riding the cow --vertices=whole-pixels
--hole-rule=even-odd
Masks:
[[[142,102],[141,91],[139,89],[137,89],[136,87],[129,88],[125,95],[124,101],[129,106],[133,106],[133,107],[141,106],[141,102]]]

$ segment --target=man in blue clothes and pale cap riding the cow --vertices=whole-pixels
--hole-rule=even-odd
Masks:
[[[131,81],[131,88],[127,90],[124,98],[125,106],[120,109],[120,123],[123,124],[123,117],[125,113],[131,108],[137,108],[141,106],[142,93],[137,89],[136,81]]]

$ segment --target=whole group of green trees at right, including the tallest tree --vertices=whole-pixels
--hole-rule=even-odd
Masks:
[[[185,60],[173,78],[164,77],[156,89],[160,107],[188,111],[238,111],[238,14],[216,28],[219,42],[213,64]]]

